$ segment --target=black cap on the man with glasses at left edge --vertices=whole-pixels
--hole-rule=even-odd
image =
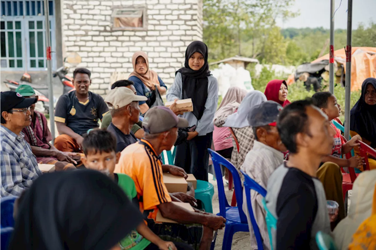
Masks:
[[[27,108],[38,101],[36,98],[24,98],[13,91],[0,92],[0,114],[12,108]]]

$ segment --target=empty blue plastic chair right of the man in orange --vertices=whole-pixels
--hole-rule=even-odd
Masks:
[[[231,173],[234,180],[235,186],[235,196],[238,202],[238,206],[230,206],[227,202],[226,196],[224,194],[224,187],[223,187],[223,180],[222,178],[217,178],[218,184],[218,199],[219,199],[219,213],[217,215],[221,215],[222,217],[226,218],[226,227],[224,229],[224,236],[223,236],[223,243],[222,243],[222,250],[230,250],[231,243],[232,243],[232,236],[236,232],[249,232],[247,217],[243,212],[242,205],[243,205],[243,190],[241,187],[240,176],[238,170],[225,158],[223,158],[220,154],[213,151],[212,149],[208,149],[209,154],[211,154],[215,175],[222,176],[221,172],[221,165],[226,167]],[[215,241],[212,242],[215,244]],[[259,248],[260,250],[262,248]]]

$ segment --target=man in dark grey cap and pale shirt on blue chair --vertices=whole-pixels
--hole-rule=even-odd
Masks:
[[[282,106],[274,101],[262,102],[256,105],[250,112],[248,121],[253,128],[255,142],[253,148],[247,153],[241,170],[256,181],[259,185],[266,189],[268,178],[273,171],[283,163],[285,146],[280,140],[277,130],[277,117]],[[243,191],[243,199],[246,200],[245,190]],[[253,214],[260,234],[264,242],[265,249],[270,248],[268,230],[265,223],[265,212],[262,205],[261,194],[251,190],[251,204]],[[253,232],[252,224],[249,217],[247,202],[243,202],[243,211],[247,215],[249,232],[251,235],[251,249],[257,249],[257,241]]]

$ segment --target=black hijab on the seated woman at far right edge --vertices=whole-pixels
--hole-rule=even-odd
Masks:
[[[362,95],[351,109],[350,130],[358,133],[362,138],[371,142],[376,148],[376,105],[365,103],[365,90],[371,84],[376,89],[376,78],[367,78],[362,84]]]

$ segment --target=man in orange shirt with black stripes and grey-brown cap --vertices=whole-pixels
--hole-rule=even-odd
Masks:
[[[170,196],[163,182],[159,155],[164,150],[171,150],[177,139],[177,128],[185,127],[188,127],[188,121],[177,117],[169,108],[150,108],[143,121],[144,139],[121,152],[115,172],[125,173],[135,182],[140,210],[156,235],[209,250],[213,230],[222,229],[226,220],[199,210],[191,212],[172,203],[180,200]],[[163,217],[177,223],[156,223],[158,210]]]

